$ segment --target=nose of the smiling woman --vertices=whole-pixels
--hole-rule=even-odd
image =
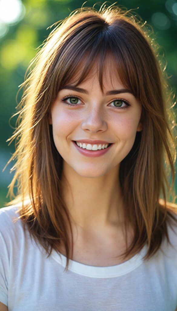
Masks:
[[[85,111],[82,122],[82,129],[84,131],[98,132],[107,130],[107,122],[105,120],[104,112],[101,107],[94,107],[89,111]]]

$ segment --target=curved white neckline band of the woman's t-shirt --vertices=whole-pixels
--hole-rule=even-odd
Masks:
[[[127,274],[141,265],[143,257],[147,252],[147,245],[141,249],[141,251],[134,255],[131,259],[108,267],[97,267],[83,264],[69,259],[68,270],[82,276],[94,277],[94,278],[112,278]],[[51,252],[51,257],[58,262],[61,266],[66,267],[66,256],[61,253],[57,253],[54,249]]]

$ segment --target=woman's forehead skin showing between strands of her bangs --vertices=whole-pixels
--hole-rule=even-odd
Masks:
[[[93,64],[91,64],[88,73],[84,75],[82,81],[79,82],[80,77],[82,77],[83,68],[85,66],[86,60],[82,60],[78,65],[73,77],[69,79],[67,84],[75,86],[87,85],[91,88],[95,85],[97,86],[98,84],[102,84],[103,91],[115,89],[117,87],[127,87],[127,85],[125,85],[125,83],[123,84],[121,81],[119,68],[111,55],[106,57],[103,66],[100,66],[100,60],[96,59]]]

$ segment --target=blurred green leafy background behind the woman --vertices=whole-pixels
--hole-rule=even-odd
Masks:
[[[100,8],[104,1],[87,1],[84,7]],[[106,2],[108,5],[114,1]],[[80,0],[0,0],[0,207],[9,201],[7,186],[12,179],[9,164],[2,169],[14,152],[14,144],[8,146],[15,126],[16,94],[24,82],[24,74],[38,47],[47,38],[47,27],[64,19],[73,10],[81,7]],[[171,85],[177,86],[177,1],[175,0],[123,0],[118,6],[133,9],[154,30],[157,43],[163,47],[167,60],[166,71],[171,76]],[[137,9],[137,7],[139,7]],[[20,101],[22,91],[17,101]],[[176,107],[174,108],[176,109]],[[177,180],[177,179],[176,179]],[[177,190],[177,182],[175,181]],[[177,191],[176,191],[177,193]],[[177,202],[177,201],[176,201]]]

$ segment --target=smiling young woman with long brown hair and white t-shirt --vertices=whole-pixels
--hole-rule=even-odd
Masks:
[[[175,123],[152,34],[119,7],[82,8],[30,68],[0,310],[175,311]]]

